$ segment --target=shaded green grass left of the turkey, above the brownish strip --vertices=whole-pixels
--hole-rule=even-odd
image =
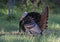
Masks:
[[[1,9],[3,10],[3,9]],[[15,10],[14,17],[9,18],[7,12],[0,10],[0,31],[17,31],[22,12]],[[5,9],[4,9],[5,10]],[[7,10],[7,9],[6,9]],[[5,12],[5,13],[4,13]]]

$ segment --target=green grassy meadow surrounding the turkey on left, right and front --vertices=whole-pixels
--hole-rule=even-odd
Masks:
[[[23,11],[14,10],[14,17],[8,17],[8,9],[0,9],[0,32],[18,31]],[[47,31],[41,36],[2,35],[0,42],[60,42],[60,14],[49,13]]]

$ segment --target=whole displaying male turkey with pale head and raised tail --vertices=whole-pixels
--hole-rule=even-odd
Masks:
[[[40,14],[38,12],[25,12],[19,22],[19,32],[30,32],[42,34],[47,28],[48,20],[48,6],[45,7],[44,11]]]

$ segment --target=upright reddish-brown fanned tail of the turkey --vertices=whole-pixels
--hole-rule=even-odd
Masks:
[[[41,14],[40,28],[44,31],[47,28],[48,20],[48,6],[45,7],[44,11]]]

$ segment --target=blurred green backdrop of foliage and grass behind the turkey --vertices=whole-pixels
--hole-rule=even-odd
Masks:
[[[47,29],[60,30],[60,0],[0,0],[0,31],[18,31],[23,12],[42,13],[46,5],[49,6]]]

